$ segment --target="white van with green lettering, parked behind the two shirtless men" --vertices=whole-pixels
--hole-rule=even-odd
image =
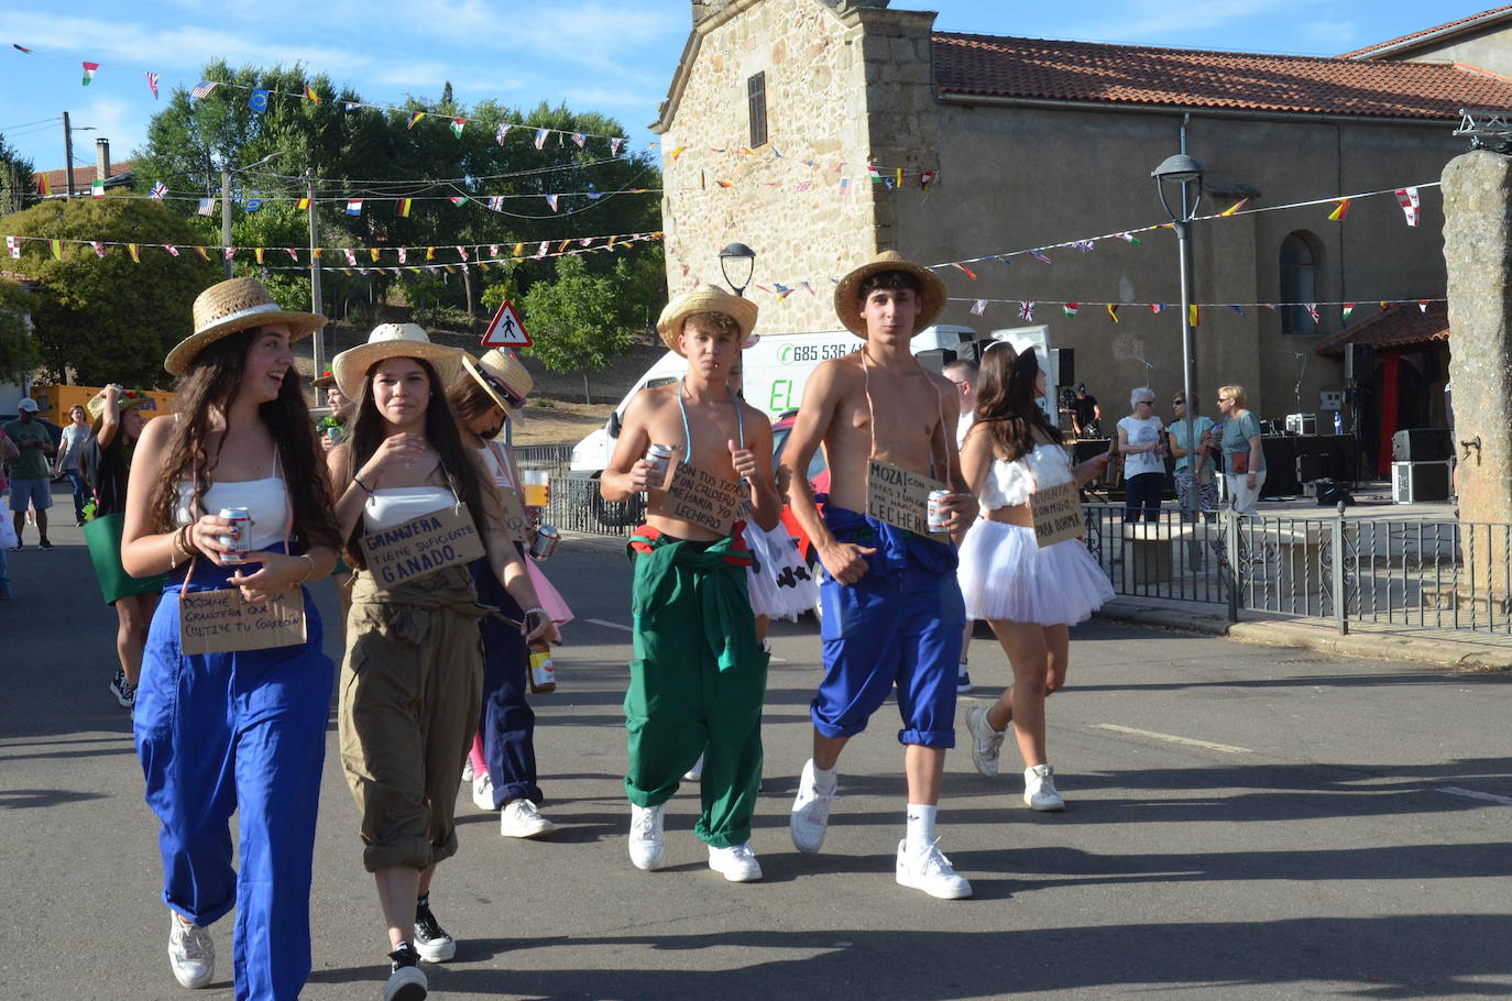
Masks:
[[[968,340],[975,340],[977,331],[971,327],[936,325],[927,327],[912,342],[913,354],[933,348],[957,348]],[[762,334],[761,339],[745,349],[744,358],[744,395],[745,402],[767,413],[768,417],[797,410],[803,399],[803,387],[809,381],[809,373],[829,358],[839,358],[853,351],[860,351],[865,342],[848,330],[826,330],[803,334]],[[643,389],[667,386],[676,383],[688,370],[686,358],[668,351],[662,358],[646,369],[646,373],[635,383],[620,405],[614,408],[605,426],[596,429],[572,449],[572,476],[597,476],[609,464],[609,454],[614,451],[614,439],[620,434],[620,422],[624,419],[624,408],[631,399]]]

